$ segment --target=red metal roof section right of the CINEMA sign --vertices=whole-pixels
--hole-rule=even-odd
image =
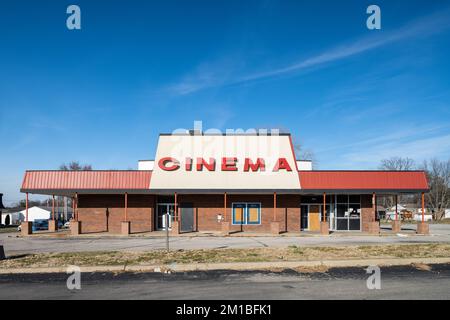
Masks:
[[[302,190],[428,190],[423,171],[300,171]]]

